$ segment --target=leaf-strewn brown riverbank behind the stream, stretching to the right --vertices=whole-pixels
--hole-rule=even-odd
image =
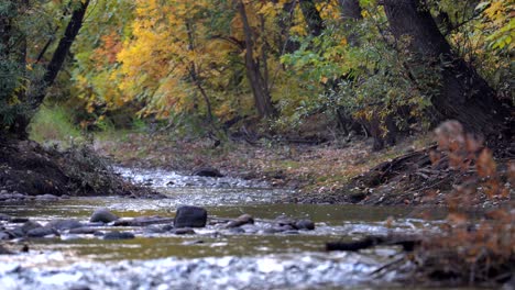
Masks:
[[[449,168],[448,163],[432,167],[435,144],[432,134],[428,134],[405,138],[380,152],[373,152],[372,140],[366,138],[318,145],[229,141],[215,146],[210,140],[119,132],[98,136],[94,147],[127,167],[185,174],[210,167],[227,176],[266,181],[294,190],[287,202],[438,207],[445,205],[449,193],[475,169],[463,174]],[[502,187],[509,187],[508,165],[513,160],[496,161]],[[482,192],[471,205],[497,207],[508,198],[487,199]]]

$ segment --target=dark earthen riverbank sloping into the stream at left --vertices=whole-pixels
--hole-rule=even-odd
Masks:
[[[70,196],[160,194],[116,175],[109,163],[88,146],[57,149],[33,141],[0,141],[0,201]]]

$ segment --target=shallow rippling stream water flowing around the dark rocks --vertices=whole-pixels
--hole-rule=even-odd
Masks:
[[[31,250],[0,256],[0,289],[380,288],[379,283],[384,286],[395,274],[379,280],[371,274],[395,259],[399,249],[327,253],[325,243],[392,232],[437,231],[439,223],[437,219],[417,219],[406,208],[282,203],[285,196],[295,192],[270,189],[261,182],[118,170],[167,198],[30,201],[0,205],[0,212],[43,224],[56,219],[86,223],[98,208],[108,208],[122,217],[173,217],[177,207],[190,204],[206,208],[212,223],[196,230],[196,234],[180,236],[150,231],[152,226],[117,226],[117,231],[134,233],[135,238],[106,241],[95,235],[62,234],[15,241],[14,245],[28,244]],[[243,226],[244,232],[223,230],[215,223],[242,213],[255,217],[255,225]],[[273,234],[263,231],[280,215],[313,220],[316,228]],[[98,230],[109,232],[113,226]]]

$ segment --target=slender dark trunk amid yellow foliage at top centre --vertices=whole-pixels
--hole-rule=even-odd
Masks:
[[[245,5],[242,1],[237,3],[238,12],[243,22],[243,33],[245,35],[245,72],[249,79],[252,94],[254,96],[255,107],[261,118],[275,115],[275,109],[266,83],[266,77],[263,77],[260,69],[260,63],[254,57],[254,33],[246,16]]]

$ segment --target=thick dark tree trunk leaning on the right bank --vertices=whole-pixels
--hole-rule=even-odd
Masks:
[[[424,0],[384,0],[383,5],[397,42],[409,40],[407,48],[414,55],[409,67],[420,69],[429,65],[434,71],[439,71],[440,88],[431,102],[440,121],[458,120],[468,131],[486,136],[508,129],[505,123],[509,109],[502,104],[486,81],[452,52]]]

